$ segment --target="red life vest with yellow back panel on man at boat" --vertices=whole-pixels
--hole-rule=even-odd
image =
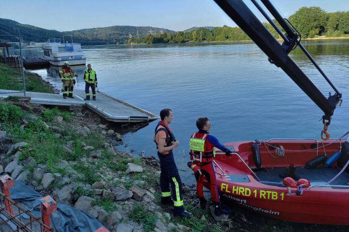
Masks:
[[[214,145],[207,140],[208,133],[194,133],[190,137],[190,159],[209,163],[216,156]]]

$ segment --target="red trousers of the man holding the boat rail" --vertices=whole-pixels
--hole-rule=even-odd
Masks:
[[[209,163],[200,163],[194,162],[196,165],[200,166],[201,173],[203,175],[195,174],[195,178],[197,181],[196,185],[196,193],[198,197],[204,197],[204,180],[207,180],[209,189],[211,191],[212,201],[215,204],[220,204],[217,183],[216,183],[216,173],[214,171],[214,166],[212,162]]]

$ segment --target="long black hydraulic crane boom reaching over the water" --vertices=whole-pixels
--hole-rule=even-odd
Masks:
[[[306,49],[300,43],[301,35],[291,25],[287,23],[271,4],[269,0],[261,0],[268,11],[274,16],[276,21],[286,31],[284,35],[281,30],[274,24],[274,22],[264,12],[262,7],[256,0],[251,0],[256,7],[261,11],[264,17],[269,23],[276,29],[280,36],[284,39],[284,43],[281,45],[270,32],[262,25],[261,21],[254,15],[254,13],[248,8],[248,6],[242,0],[214,0],[232,20],[257,44],[260,49],[269,57],[269,61],[275,64],[277,67],[282,68],[287,75],[316,103],[320,109],[324,112],[322,121],[325,126],[330,124],[331,116],[336,106],[342,103],[342,94],[334,87],[331,81],[322,72],[320,67],[316,64],[314,59],[306,51]],[[292,27],[291,27],[291,26]],[[302,72],[302,70],[292,61],[288,53],[291,52],[296,46],[307,55],[310,61],[319,70],[321,75],[327,80],[330,86],[335,91],[334,95],[329,93],[329,97],[326,99],[320,90],[314,85],[314,83]],[[328,120],[328,122],[325,122]],[[322,137],[322,136],[321,136]]]

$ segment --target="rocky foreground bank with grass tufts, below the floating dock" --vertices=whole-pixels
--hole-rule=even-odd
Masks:
[[[30,133],[29,128],[36,122],[43,126],[40,132],[51,133],[62,141],[57,149],[63,154],[74,156],[78,152],[77,148],[82,154],[75,160],[59,159],[50,164],[51,160],[40,160],[40,155],[30,153],[37,152],[35,146],[28,141],[18,140],[18,131],[8,129],[6,123],[2,123],[0,175],[8,174],[43,196],[50,195],[59,203],[90,214],[111,232],[190,231],[188,224],[185,226],[173,222],[171,206],[160,206],[158,160],[153,156],[115,150],[111,141],[121,141],[121,135],[108,129],[108,124],[101,124],[96,115],[91,117],[91,112],[72,112],[66,121],[61,116],[62,111],[61,115],[57,113],[52,120],[47,120],[45,114],[54,109],[28,102],[0,100],[1,103],[17,105],[24,110],[15,126],[21,132]],[[68,134],[67,128],[75,131],[75,134]],[[89,143],[87,138],[92,134],[100,136],[100,144]],[[183,192],[186,199],[195,195],[195,190],[188,186],[183,186]],[[145,210],[143,213],[155,215],[154,219],[145,222],[140,220],[132,213],[137,206]]]

